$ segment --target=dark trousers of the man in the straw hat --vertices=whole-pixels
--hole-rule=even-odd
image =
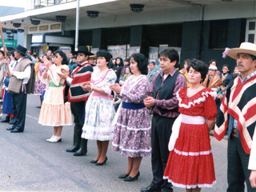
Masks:
[[[243,150],[240,139],[230,136],[227,147],[227,180],[229,185],[227,192],[244,192],[244,182],[246,182],[248,192],[256,191],[250,186],[249,157],[250,154],[246,154]]]

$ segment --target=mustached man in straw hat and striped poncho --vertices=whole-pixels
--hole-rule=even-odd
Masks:
[[[217,115],[214,136],[221,140],[228,130],[226,191],[244,191],[244,182],[247,191],[256,191],[249,180],[250,170],[256,170],[255,155],[250,159],[254,163],[248,167],[256,125],[256,45],[242,42],[240,47],[230,49],[227,55],[236,59],[240,74],[227,86]]]

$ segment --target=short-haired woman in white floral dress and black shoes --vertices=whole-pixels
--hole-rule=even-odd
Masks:
[[[86,117],[82,127],[82,138],[96,140],[98,155],[91,163],[96,166],[106,164],[106,152],[109,141],[113,139],[112,121],[114,119],[114,106],[112,103],[110,85],[117,79],[114,70],[107,67],[112,55],[106,50],[96,53],[97,66],[91,75],[90,82],[82,84],[83,90],[91,92],[86,102]]]

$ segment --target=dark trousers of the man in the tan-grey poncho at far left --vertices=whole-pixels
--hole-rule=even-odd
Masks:
[[[13,128],[23,132],[26,121],[26,94],[11,94],[11,102],[14,114]]]

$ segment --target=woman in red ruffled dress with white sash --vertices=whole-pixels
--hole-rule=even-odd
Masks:
[[[169,143],[170,155],[163,177],[187,192],[200,191],[216,182],[209,134],[217,114],[216,92],[202,86],[207,70],[206,64],[195,58],[187,67],[191,86],[177,93],[181,123],[173,126],[173,134],[179,128],[178,138],[172,145]]]

